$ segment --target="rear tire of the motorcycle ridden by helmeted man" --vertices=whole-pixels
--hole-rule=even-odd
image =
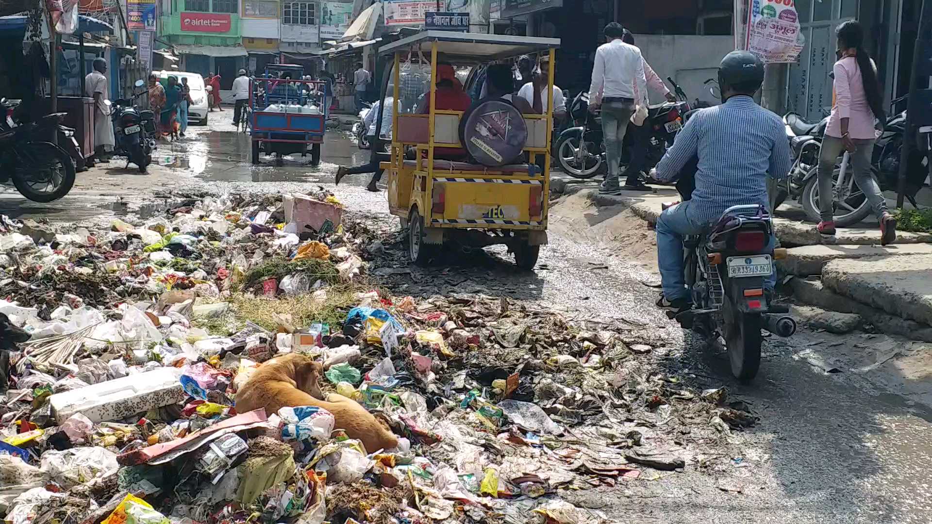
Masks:
[[[761,368],[761,313],[738,310],[734,299],[726,293],[721,305],[724,326],[721,338],[735,379],[747,381],[757,376]]]

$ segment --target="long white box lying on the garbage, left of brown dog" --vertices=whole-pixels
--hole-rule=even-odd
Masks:
[[[157,407],[182,402],[181,370],[161,367],[121,379],[55,393],[48,397],[52,416],[61,424],[77,413],[91,422],[117,421]]]

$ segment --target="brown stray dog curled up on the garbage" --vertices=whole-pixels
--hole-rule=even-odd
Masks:
[[[266,413],[277,413],[280,407],[316,406],[334,414],[336,429],[342,429],[349,438],[363,441],[368,453],[398,446],[398,437],[384,421],[379,421],[358,402],[341,394],[322,398],[317,380],[323,374],[323,365],[310,357],[289,353],[260,365],[252,377],[236,393],[236,410],[246,413],[265,407]]]

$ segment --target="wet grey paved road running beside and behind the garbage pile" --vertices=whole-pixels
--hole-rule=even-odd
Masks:
[[[335,132],[324,145],[317,169],[299,159],[281,168],[254,167],[248,159],[248,139],[226,123],[230,115],[214,114],[209,128],[192,128],[187,139],[163,145],[157,154],[159,166],[149,175],[111,164],[79,174],[74,195],[42,205],[21,200],[7,187],[0,193],[0,213],[105,222],[139,210],[158,211],[185,191],[330,186],[337,163],[361,163],[367,157]],[[336,193],[349,209],[370,214],[374,224],[393,222],[386,213],[384,192],[365,192],[366,182],[364,175],[348,179]],[[159,189],[171,195],[153,198]],[[651,325],[669,342],[661,361],[667,372],[692,374],[698,387],[725,383],[732,395],[746,400],[761,416],[756,427],[736,434],[729,447],[739,451],[739,465],[718,460],[715,467],[691,465],[685,474],[655,481],[564,494],[579,505],[597,508],[614,522],[932,521],[932,476],[927,473],[932,463],[932,410],[924,404],[872,386],[862,375],[825,374],[792,358],[799,348],[787,345],[768,345],[761,376],[750,385],[735,383],[721,352],[684,338],[653,309],[655,290],[644,283],[656,276],[611,256],[604,246],[552,233],[539,269],[530,273],[514,269],[500,250],[448,262],[454,266],[449,271],[414,269],[407,291],[426,294],[431,288],[425,283],[437,281],[437,292],[505,294],[568,311],[575,319]],[[609,268],[594,269],[593,262]],[[844,352],[845,347],[836,350]],[[687,437],[684,440],[689,448]]]

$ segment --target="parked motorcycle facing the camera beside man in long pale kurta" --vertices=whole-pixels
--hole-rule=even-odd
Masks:
[[[143,87],[142,80],[136,80],[135,87]],[[114,136],[117,144],[114,145],[114,154],[125,156],[126,167],[130,162],[139,167],[139,172],[152,163],[152,151],[156,148],[156,116],[148,109],[140,110],[132,101],[142,96],[144,90],[133,93],[130,98],[121,98],[113,101],[104,101],[111,107],[111,119],[114,125]]]

